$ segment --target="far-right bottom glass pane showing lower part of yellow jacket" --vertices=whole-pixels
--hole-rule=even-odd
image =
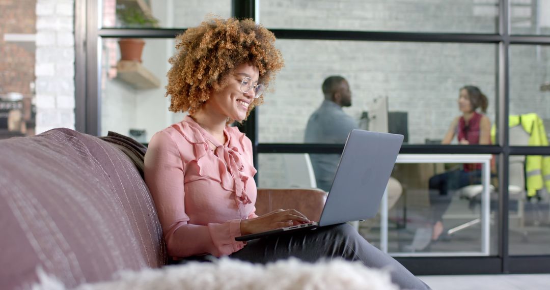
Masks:
[[[550,156],[510,157],[509,252],[550,254]]]

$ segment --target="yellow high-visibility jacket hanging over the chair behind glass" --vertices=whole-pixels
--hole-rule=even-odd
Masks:
[[[510,115],[509,127],[521,125],[529,133],[529,146],[548,146],[548,137],[542,119],[535,113]],[[496,127],[491,128],[491,140],[494,143]],[[525,186],[527,196],[536,196],[537,190],[546,188],[550,192],[550,156],[527,155],[525,158]]]

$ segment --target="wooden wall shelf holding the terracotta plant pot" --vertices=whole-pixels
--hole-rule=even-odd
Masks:
[[[117,63],[117,79],[127,82],[137,90],[149,90],[161,86],[161,81],[141,63],[120,60]]]

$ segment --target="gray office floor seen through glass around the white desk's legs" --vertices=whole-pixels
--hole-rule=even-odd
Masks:
[[[510,236],[509,236],[509,253],[511,255],[548,255],[550,254],[550,210],[548,209],[548,200],[540,204],[526,204],[525,206],[525,226],[518,226],[518,219],[513,215],[510,218]],[[514,213],[515,214],[515,213]],[[388,250],[391,253],[407,253],[411,252],[410,248],[413,244],[415,235],[420,227],[426,227],[426,216],[428,211],[425,207],[408,207],[407,220],[403,222],[395,221],[403,220],[401,216],[402,209],[400,204],[390,210],[389,216],[389,231],[388,231]],[[458,217],[465,216],[465,217]],[[475,217],[479,217],[479,207],[475,210],[469,208],[466,200],[455,197],[450,205],[447,213],[444,216],[444,225],[446,230],[454,226],[470,221]],[[495,221],[496,213],[493,212],[491,218],[491,255],[497,254],[497,224]],[[360,233],[367,241],[374,246],[379,247],[379,219],[373,219],[361,222]],[[430,244],[429,248],[412,250],[412,252],[445,252],[456,253],[461,252],[479,252],[481,250],[480,241],[481,227],[480,224],[467,227],[464,230],[456,232],[453,236],[442,238],[437,243]],[[431,237],[431,232],[425,233],[427,243]],[[427,244],[425,243],[425,244]],[[549,287],[550,289],[550,287]]]

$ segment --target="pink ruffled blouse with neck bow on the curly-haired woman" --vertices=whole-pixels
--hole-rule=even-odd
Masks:
[[[151,138],[145,182],[168,255],[222,256],[245,246],[234,238],[241,235],[241,219],[257,217],[252,143],[235,127],[226,127],[224,135],[220,144],[186,116]]]

